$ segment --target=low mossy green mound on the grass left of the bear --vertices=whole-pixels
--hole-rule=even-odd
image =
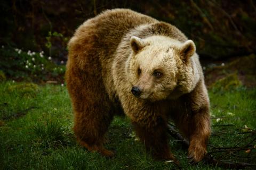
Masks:
[[[17,93],[21,97],[35,97],[39,91],[39,87],[34,83],[22,83],[10,86],[8,90]]]

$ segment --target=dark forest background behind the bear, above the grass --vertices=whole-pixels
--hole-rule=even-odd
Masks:
[[[68,40],[80,24],[107,9],[130,8],[158,20],[169,22],[184,32],[189,39],[194,40],[201,63],[205,67],[205,73],[206,75],[211,74],[210,77],[206,76],[206,83],[210,82],[208,84],[211,84],[216,79],[223,77],[221,75],[222,70],[219,71],[221,73],[216,75],[215,73],[218,71],[212,71],[212,67],[221,64],[223,66],[223,63],[255,54],[255,5],[256,3],[252,0],[1,1],[0,45],[2,47],[18,48],[24,52],[43,51],[45,56],[51,56],[53,63],[59,65],[62,63],[64,66],[67,61]],[[23,69],[24,76],[23,74],[20,76],[20,72],[13,73],[13,70],[19,67],[17,64],[13,64],[13,61],[20,62],[22,55],[16,56],[16,58],[9,56],[10,53],[1,53],[0,56],[0,62],[2,63],[0,64],[0,70],[7,77],[14,80],[23,80],[24,77],[34,76],[30,72],[36,73],[35,69],[31,68],[32,70],[30,69],[27,74],[28,70],[24,70],[24,66],[20,68],[21,71]],[[243,84],[246,84],[249,80],[250,83],[247,84],[254,86],[255,78],[244,76],[244,74],[255,74],[255,64],[252,65],[253,62],[255,62],[255,56],[242,58],[240,61],[236,61],[236,64],[225,69],[229,73],[237,72],[238,69],[239,79],[242,81],[246,79]],[[10,63],[12,63],[12,66],[6,68],[6,65]],[[242,65],[237,65],[237,63],[242,63]],[[48,72],[53,72],[55,67],[49,68]],[[65,72],[65,67],[62,70],[64,71],[57,72],[57,77],[59,77],[57,80],[61,82],[63,82],[62,75]],[[47,69],[45,72],[47,72]],[[54,77],[53,75],[49,76],[49,73],[45,73],[45,75],[44,80]],[[32,79],[34,80],[34,78]]]

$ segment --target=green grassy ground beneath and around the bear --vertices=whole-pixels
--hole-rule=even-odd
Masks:
[[[155,162],[145,153],[145,147],[136,140],[125,117],[115,117],[107,134],[106,147],[116,151],[114,158],[104,158],[78,146],[72,131],[73,115],[66,87],[2,82],[0,96],[0,169],[175,168],[172,163]],[[255,138],[255,133],[254,136],[247,133],[256,129],[255,96],[256,89],[244,87],[210,90],[213,124],[210,151],[213,147],[237,144],[243,147]],[[248,134],[251,136],[242,141]],[[172,151],[183,169],[218,169],[203,163],[189,165],[186,149],[170,139]],[[244,150],[230,152],[222,159],[238,161],[233,154],[244,162],[256,162],[255,149],[249,154]]]

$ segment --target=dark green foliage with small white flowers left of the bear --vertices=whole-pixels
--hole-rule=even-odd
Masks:
[[[45,81],[62,77],[65,66],[58,66],[44,52],[23,52],[21,49],[5,47],[0,49],[0,68],[7,77],[14,80]],[[62,78],[63,79],[63,78]]]

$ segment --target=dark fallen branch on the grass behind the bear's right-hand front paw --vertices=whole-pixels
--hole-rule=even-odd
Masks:
[[[177,130],[175,130],[173,125],[171,125],[171,124],[168,125],[168,132],[173,138],[178,139],[179,141],[181,141],[182,145],[184,145],[186,147],[189,147],[189,142],[185,138],[183,138],[182,135]],[[219,160],[213,158],[213,156],[210,155],[210,154],[205,155],[204,161],[206,163],[212,164],[214,166],[219,166],[219,167],[222,167],[222,168],[242,169],[242,168],[245,168],[245,167],[256,167],[256,164],[228,163],[228,162],[225,162],[225,161],[219,161]]]

